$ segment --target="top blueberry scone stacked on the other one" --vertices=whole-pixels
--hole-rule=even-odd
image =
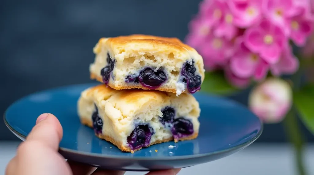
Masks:
[[[101,38],[94,47],[91,79],[116,90],[195,93],[204,80],[203,58],[177,38],[129,35]]]

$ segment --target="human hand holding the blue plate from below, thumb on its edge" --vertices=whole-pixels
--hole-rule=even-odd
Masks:
[[[62,126],[52,114],[41,114],[25,142],[11,159],[6,175],[123,175],[124,171],[97,169],[82,163],[66,161],[58,153]],[[176,175],[180,169],[149,172],[147,175]]]

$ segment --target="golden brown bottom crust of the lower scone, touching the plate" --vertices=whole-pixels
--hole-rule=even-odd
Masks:
[[[89,126],[89,127],[93,128],[93,124],[89,120],[86,120],[86,119],[83,118],[83,119],[81,119],[81,123],[86,125],[86,126]],[[107,142],[111,142],[112,144],[116,145],[116,147],[118,147],[121,151],[133,153],[135,151],[138,151],[138,150],[142,149],[142,148],[139,148],[137,150],[131,150],[129,147],[123,146],[122,143],[117,142],[114,138],[112,138],[110,136],[106,136],[106,135],[103,135],[103,134],[99,134],[99,135],[96,135],[96,136],[101,138],[101,139],[106,140]],[[198,133],[194,133],[191,136],[187,136],[187,137],[180,138],[179,140],[175,140],[175,142],[185,141],[185,140],[193,140],[193,139],[196,139],[197,137],[198,137]],[[164,140],[160,140],[160,141],[156,141],[156,142],[150,143],[149,146],[154,145],[154,144],[163,143],[163,142],[170,142],[172,140],[174,140],[174,138],[170,137],[170,138],[167,138],[167,139],[164,139]]]

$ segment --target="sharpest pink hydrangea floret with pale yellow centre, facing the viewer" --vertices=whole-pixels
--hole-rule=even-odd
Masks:
[[[284,44],[288,39],[281,28],[268,20],[248,28],[244,34],[244,43],[248,49],[260,56],[269,64],[279,61]]]

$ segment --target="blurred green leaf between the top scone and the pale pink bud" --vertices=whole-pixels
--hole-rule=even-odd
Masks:
[[[205,79],[201,86],[201,92],[229,95],[237,91],[239,91],[239,89],[230,85],[222,72],[205,72]]]

